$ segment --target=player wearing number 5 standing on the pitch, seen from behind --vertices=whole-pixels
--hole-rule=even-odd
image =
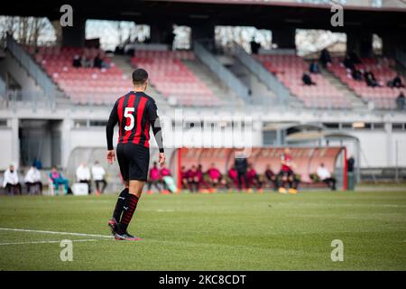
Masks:
[[[118,123],[119,135],[116,147],[117,161],[125,182],[115,204],[113,218],[108,226],[116,240],[137,240],[127,232],[128,224],[133,218],[148,176],[150,162],[150,126],[158,144],[159,163],[165,163],[165,154],[161,136],[161,122],[153,98],[145,94],[148,87],[148,73],[143,69],[133,72],[134,90],[115,101],[106,126],[107,162],[115,161],[113,135]]]

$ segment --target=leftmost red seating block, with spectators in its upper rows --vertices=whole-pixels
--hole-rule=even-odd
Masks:
[[[104,51],[73,47],[39,47],[37,51],[33,48],[29,51],[74,103],[110,104],[117,98],[117,91],[125,94],[132,87],[131,79],[106,57]],[[81,56],[84,52],[89,58],[99,53],[109,68],[73,67],[74,56]]]

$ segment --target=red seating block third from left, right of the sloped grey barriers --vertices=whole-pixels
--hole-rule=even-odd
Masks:
[[[297,55],[257,55],[258,61],[276,75],[291,93],[303,101],[305,107],[350,108],[351,103],[342,92],[333,87],[321,74],[311,74],[317,85],[306,86],[302,74],[309,71],[309,64]]]

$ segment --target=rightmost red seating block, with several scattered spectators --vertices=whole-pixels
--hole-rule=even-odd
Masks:
[[[337,76],[343,83],[345,83],[349,89],[352,89],[355,94],[364,99],[364,101],[372,101],[374,107],[380,109],[394,109],[396,108],[395,99],[399,96],[401,91],[406,92],[405,89],[388,88],[387,82],[392,80],[396,76],[396,71],[392,70],[394,61],[392,59],[372,59],[362,58],[362,63],[355,64],[356,70],[361,72],[365,70],[371,70],[378,82],[381,83],[381,87],[368,87],[363,80],[355,80],[351,76],[350,70],[347,70],[342,63],[343,58],[333,58],[330,71]],[[401,78],[403,83],[404,79]]]

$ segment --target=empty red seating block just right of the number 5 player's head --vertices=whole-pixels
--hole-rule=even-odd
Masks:
[[[219,106],[220,99],[182,63],[194,59],[192,51],[136,51],[131,63],[148,70],[154,88],[164,98],[176,99],[179,106]]]

